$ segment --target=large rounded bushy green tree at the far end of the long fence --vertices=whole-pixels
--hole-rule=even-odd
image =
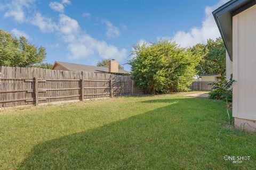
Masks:
[[[129,64],[134,82],[148,94],[185,91],[200,58],[175,43],[135,45]]]

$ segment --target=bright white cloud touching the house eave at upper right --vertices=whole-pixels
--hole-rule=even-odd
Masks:
[[[202,21],[202,26],[197,28],[192,28],[189,32],[178,31],[173,37],[157,37],[157,40],[170,40],[175,41],[181,47],[189,47],[196,45],[197,43],[205,44],[207,39],[215,39],[220,36],[217,25],[214,21],[212,11],[215,10],[220,5],[226,3],[228,0],[221,0],[218,4],[214,6],[205,7],[205,19]]]

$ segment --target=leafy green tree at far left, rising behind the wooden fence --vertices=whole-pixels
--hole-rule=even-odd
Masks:
[[[19,39],[0,29],[0,65],[31,67],[41,64],[45,48],[35,47],[25,37]]]

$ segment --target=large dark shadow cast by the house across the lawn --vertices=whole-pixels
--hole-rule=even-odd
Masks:
[[[19,168],[221,169],[236,166],[223,160],[227,152],[236,151],[239,140],[236,137],[234,144],[226,146],[230,140],[221,124],[225,122],[222,114],[225,109],[219,103],[193,98],[144,102],[172,105],[41,143],[31,150]],[[204,107],[198,107],[200,105]],[[256,156],[255,145],[240,147]]]

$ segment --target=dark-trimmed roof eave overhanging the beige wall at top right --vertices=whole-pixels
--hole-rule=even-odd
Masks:
[[[233,16],[255,4],[255,0],[231,0],[212,12],[231,61],[233,61]]]

